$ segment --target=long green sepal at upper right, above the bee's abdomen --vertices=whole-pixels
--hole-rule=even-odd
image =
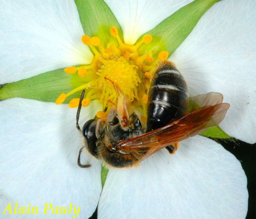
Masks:
[[[139,48],[139,54],[153,51],[156,57],[159,52],[168,51],[169,55],[172,55],[203,14],[218,1],[220,0],[196,0],[176,11],[154,29],[143,34],[143,36],[151,34],[153,40],[148,44],[142,44]],[[138,41],[141,39],[142,37]]]

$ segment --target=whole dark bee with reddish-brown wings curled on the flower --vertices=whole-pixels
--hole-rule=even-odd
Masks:
[[[173,154],[179,142],[200,134],[207,128],[217,126],[225,117],[228,103],[222,103],[220,93],[210,92],[188,98],[187,84],[172,62],[158,64],[148,91],[147,123],[142,128],[136,112],[129,112],[125,96],[120,93],[117,106],[113,106],[103,119],[88,120],[82,130],[78,120],[81,110],[81,94],[76,114],[76,127],[84,136],[90,154],[108,167],[124,168],[139,163],[166,148]]]

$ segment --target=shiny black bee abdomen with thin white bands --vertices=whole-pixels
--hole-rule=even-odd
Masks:
[[[175,65],[161,62],[148,92],[147,132],[183,116],[185,109],[180,109],[180,105],[188,98],[187,91],[187,84]]]

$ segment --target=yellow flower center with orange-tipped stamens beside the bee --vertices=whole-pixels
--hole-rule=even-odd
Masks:
[[[89,75],[93,79],[67,94],[60,94],[56,104],[61,104],[65,99],[86,89],[86,95],[82,101],[82,106],[89,106],[91,100],[100,99],[104,111],[108,113],[113,105],[117,104],[117,99],[122,93],[130,102],[136,101],[136,105],[141,106],[143,115],[146,116],[146,104],[148,101],[148,88],[157,62],[168,57],[168,52],[160,52],[158,58],[154,60],[153,52],[139,55],[138,48],[143,43],[150,43],[151,35],[145,35],[141,41],[135,45],[125,44],[119,37],[116,27],[110,28],[110,34],[116,38],[119,46],[108,43],[104,48],[98,37],[82,36],[82,42],[89,46],[94,58],[90,65],[74,67],[70,66],[64,71],[67,74],[75,74],[79,77]],[[69,102],[69,107],[77,107],[78,98]],[[103,118],[105,112],[98,112],[96,116]]]

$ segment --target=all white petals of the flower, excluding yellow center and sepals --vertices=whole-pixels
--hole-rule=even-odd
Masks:
[[[135,42],[189,2],[107,4],[126,42]],[[256,141],[255,8],[255,1],[214,4],[170,57],[184,75],[190,94],[215,91],[224,95],[224,102],[231,106],[220,127],[251,143]],[[74,2],[2,1],[0,10],[0,84],[91,61],[92,54],[80,41],[83,30]],[[94,102],[90,110],[83,109],[80,122],[93,117],[99,107]],[[100,162],[90,161],[88,169],[76,164],[83,145],[75,127],[76,109],[17,98],[0,102],[0,109],[1,212],[8,203],[20,207],[31,203],[40,211],[30,218],[70,218],[73,215],[42,213],[44,203],[73,203],[81,207],[79,218],[88,218],[99,201],[98,218],[246,215],[248,193],[241,164],[209,139],[189,138],[173,156],[162,150],[138,169],[109,170],[101,193]]]

